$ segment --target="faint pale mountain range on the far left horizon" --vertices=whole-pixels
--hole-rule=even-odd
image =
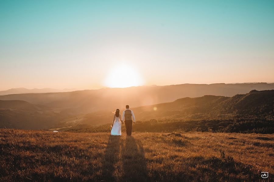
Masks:
[[[0,91],[0,95],[9,95],[9,94],[21,94],[21,93],[51,93],[51,92],[71,92],[75,89],[51,89],[51,88],[44,88],[44,89],[26,89],[26,88],[14,88]]]

